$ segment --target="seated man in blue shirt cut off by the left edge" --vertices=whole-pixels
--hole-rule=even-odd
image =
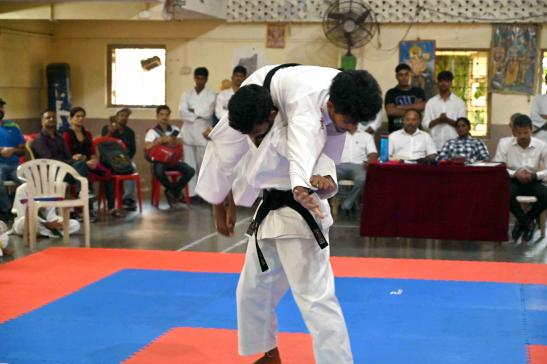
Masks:
[[[0,220],[13,221],[11,201],[4,188],[4,181],[17,179],[19,157],[25,154],[25,139],[19,125],[11,120],[4,120],[4,105],[0,98]]]

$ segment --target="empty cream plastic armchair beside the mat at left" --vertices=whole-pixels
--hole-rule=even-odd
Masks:
[[[66,175],[71,175],[80,182],[78,198],[67,199]],[[37,218],[40,207],[58,207],[63,216],[63,241],[68,243],[69,212],[73,207],[82,207],[84,214],[85,246],[90,247],[89,240],[89,192],[87,179],[80,176],[70,165],[53,159],[35,159],[25,162],[17,168],[19,179],[27,183],[28,201],[25,213],[25,232],[23,241],[30,240],[30,250],[36,247]]]

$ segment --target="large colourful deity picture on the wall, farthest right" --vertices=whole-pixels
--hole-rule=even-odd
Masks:
[[[490,49],[490,89],[533,95],[538,84],[539,26],[496,24]]]

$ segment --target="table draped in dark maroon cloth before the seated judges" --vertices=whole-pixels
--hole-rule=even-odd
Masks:
[[[504,166],[369,165],[361,235],[443,240],[508,240]]]

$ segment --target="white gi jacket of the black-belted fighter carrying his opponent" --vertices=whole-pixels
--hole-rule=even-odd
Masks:
[[[232,185],[234,201],[239,206],[251,206],[263,189],[290,191],[289,161],[287,160],[287,126],[279,121],[266,135],[259,148],[250,146],[249,152],[238,165],[238,176]],[[331,176],[337,181],[336,166],[332,159],[321,154],[313,169],[314,175]],[[319,206],[325,217],[316,218],[324,234],[333,224],[329,203],[326,200],[336,194],[318,195]],[[313,238],[309,226],[302,216],[290,207],[270,211],[258,230],[259,239],[267,238]]]

